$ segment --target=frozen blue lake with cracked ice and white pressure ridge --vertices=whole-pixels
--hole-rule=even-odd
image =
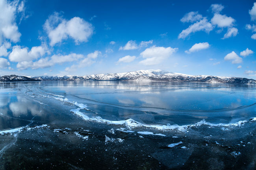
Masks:
[[[250,169],[255,89],[194,82],[1,83],[0,169]]]

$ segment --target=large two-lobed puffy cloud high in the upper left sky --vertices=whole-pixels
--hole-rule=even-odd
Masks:
[[[87,42],[94,29],[91,23],[80,17],[66,20],[59,13],[50,15],[43,27],[50,38],[50,46],[67,38],[72,38],[76,44]]]

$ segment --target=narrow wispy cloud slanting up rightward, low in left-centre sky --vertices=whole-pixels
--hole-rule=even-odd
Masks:
[[[93,53],[89,53],[87,57],[84,57],[82,60],[79,61],[79,64],[73,64],[72,66],[65,68],[65,71],[72,72],[76,71],[78,68],[90,66],[91,64],[95,63],[95,59],[101,54],[102,53],[97,50]]]

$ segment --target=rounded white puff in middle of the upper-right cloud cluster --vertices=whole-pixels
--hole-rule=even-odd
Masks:
[[[211,23],[213,25],[217,25],[218,27],[231,27],[236,20],[231,16],[214,14],[213,18],[211,18]]]

